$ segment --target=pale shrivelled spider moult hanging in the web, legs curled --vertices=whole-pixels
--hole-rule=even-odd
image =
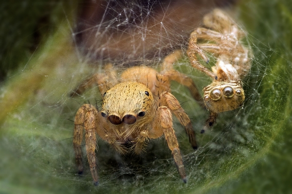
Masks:
[[[243,105],[245,96],[241,79],[251,67],[251,52],[239,42],[245,34],[225,12],[214,9],[204,16],[203,23],[208,29],[197,28],[192,32],[187,50],[191,65],[213,79],[210,85],[203,88],[204,104],[210,116],[201,133],[213,126],[218,113]],[[210,42],[198,44],[198,39]],[[217,57],[212,71],[198,61],[197,54],[209,63],[203,50]]]

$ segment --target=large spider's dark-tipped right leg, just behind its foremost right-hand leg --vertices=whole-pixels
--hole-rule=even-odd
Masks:
[[[184,126],[185,132],[188,135],[189,142],[194,149],[197,149],[196,134],[193,129],[191,120],[184,112],[179,101],[169,92],[161,94],[161,103],[163,106],[167,106],[169,110],[179,119],[180,123]]]

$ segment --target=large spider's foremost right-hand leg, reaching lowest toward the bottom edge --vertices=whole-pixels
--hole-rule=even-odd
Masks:
[[[155,117],[155,120],[153,122],[153,129],[154,131],[158,132],[163,131],[165,140],[169,149],[171,150],[171,154],[173,156],[179,174],[183,179],[183,182],[186,183],[186,174],[183,166],[183,158],[180,152],[178,140],[172,127],[172,116],[168,107],[161,106],[158,108],[157,116]]]

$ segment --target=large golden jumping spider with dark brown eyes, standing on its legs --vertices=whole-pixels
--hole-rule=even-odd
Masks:
[[[83,172],[81,143],[85,128],[85,146],[94,185],[99,183],[95,161],[96,133],[122,154],[140,154],[149,139],[164,135],[178,172],[186,182],[172,113],[184,126],[194,149],[197,148],[197,142],[188,115],[169,92],[170,81],[187,86],[201,105],[203,101],[192,79],[172,69],[173,63],[180,56],[179,51],[166,56],[162,65],[164,70],[160,73],[147,66],[135,66],[125,70],[119,79],[109,64],[105,66],[104,74],[94,74],[74,90],[71,96],[80,95],[97,84],[103,94],[101,110],[91,104],[84,104],[75,115],[73,147],[79,174]]]

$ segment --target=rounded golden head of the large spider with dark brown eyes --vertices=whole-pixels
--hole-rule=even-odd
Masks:
[[[113,125],[142,125],[155,115],[153,95],[143,83],[116,84],[104,94],[100,113]]]

